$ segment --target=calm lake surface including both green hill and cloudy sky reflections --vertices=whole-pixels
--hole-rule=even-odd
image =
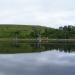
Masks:
[[[75,75],[75,43],[4,42],[0,52],[0,75]]]

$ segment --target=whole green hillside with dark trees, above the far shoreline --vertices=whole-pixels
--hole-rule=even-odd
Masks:
[[[0,38],[36,38],[75,39],[75,27],[72,25],[58,29],[33,25],[0,25]]]

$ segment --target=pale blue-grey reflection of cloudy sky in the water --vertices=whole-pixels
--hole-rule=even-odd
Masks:
[[[75,52],[0,54],[0,75],[75,75]]]

